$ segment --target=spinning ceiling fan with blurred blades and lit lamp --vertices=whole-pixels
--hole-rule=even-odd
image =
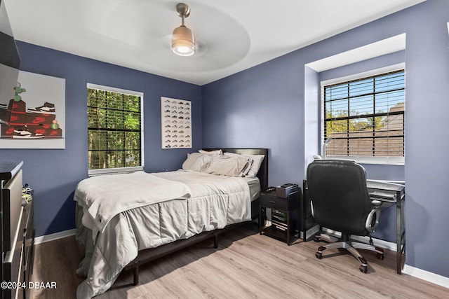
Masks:
[[[157,15],[147,18],[142,8],[135,11],[142,15],[140,34],[135,35],[135,57],[140,64],[157,67],[161,72],[193,74],[232,66],[250,49],[243,25],[208,1],[189,0],[185,4],[152,0],[145,5]]]

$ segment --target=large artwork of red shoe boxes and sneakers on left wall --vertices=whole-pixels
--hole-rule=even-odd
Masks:
[[[0,148],[65,148],[65,79],[19,71],[0,102]]]

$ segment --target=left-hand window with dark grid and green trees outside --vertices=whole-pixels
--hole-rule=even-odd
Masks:
[[[89,174],[143,169],[141,92],[87,86]]]

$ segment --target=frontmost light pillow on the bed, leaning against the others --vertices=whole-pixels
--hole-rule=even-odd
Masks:
[[[249,167],[250,160],[246,157],[214,155],[203,172],[221,176],[245,176]]]

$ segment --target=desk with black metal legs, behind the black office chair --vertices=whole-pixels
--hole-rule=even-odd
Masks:
[[[404,224],[404,201],[406,200],[406,188],[396,183],[387,183],[383,181],[366,180],[368,192],[373,200],[380,200],[382,207],[390,207],[396,204],[396,272],[401,274],[402,254],[406,249],[406,228]],[[304,200],[302,201],[302,211],[306,211],[307,204],[310,205],[308,198],[307,180],[303,181],[302,192]],[[304,219],[304,215],[303,215]],[[305,228],[305,223],[303,228]],[[306,231],[303,232],[304,241],[307,240]]]

